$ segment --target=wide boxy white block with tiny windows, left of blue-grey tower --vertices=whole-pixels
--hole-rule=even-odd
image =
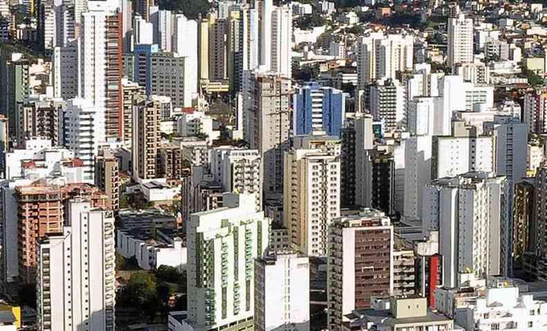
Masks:
[[[494,138],[491,136],[433,137],[433,178],[454,177],[466,172],[494,171]]]

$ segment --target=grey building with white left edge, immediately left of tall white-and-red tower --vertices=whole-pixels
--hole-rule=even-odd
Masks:
[[[55,98],[69,100],[78,96],[78,44],[69,42],[57,46],[51,56],[53,69],[53,95]]]

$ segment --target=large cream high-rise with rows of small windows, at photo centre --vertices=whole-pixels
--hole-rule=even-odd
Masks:
[[[338,138],[317,133],[295,136],[285,152],[283,220],[307,256],[327,254],[328,226],[340,216],[340,154]]]

